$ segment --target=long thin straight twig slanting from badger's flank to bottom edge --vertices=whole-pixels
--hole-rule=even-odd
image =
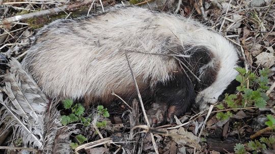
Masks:
[[[129,66],[130,72],[132,74],[132,78],[133,78],[133,81],[134,81],[135,89],[136,89],[137,96],[139,97],[139,100],[140,100],[140,103],[141,103],[141,107],[142,107],[142,111],[143,111],[143,114],[144,114],[144,118],[145,118],[146,124],[147,124],[148,127],[150,127],[150,123],[149,123],[149,120],[148,120],[148,117],[147,117],[147,114],[146,114],[146,111],[145,111],[145,108],[144,108],[144,105],[143,105],[143,101],[142,101],[142,98],[141,98],[141,93],[140,93],[139,87],[137,86],[136,80],[134,78],[132,67],[130,65],[127,53],[125,52],[124,54],[125,54],[126,60],[128,62],[128,66]],[[152,143],[153,143],[155,152],[156,152],[156,154],[158,154],[157,145],[156,145],[156,142],[155,142],[155,139],[154,139],[154,135],[152,133],[150,133],[150,135],[151,135],[151,139],[152,139]]]

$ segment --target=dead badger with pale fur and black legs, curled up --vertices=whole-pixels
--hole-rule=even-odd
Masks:
[[[60,19],[37,34],[22,65],[51,98],[110,103],[137,96],[125,53],[153,123],[216,102],[235,79],[238,55],[221,35],[177,15],[128,7]],[[166,120],[166,118],[165,118]]]

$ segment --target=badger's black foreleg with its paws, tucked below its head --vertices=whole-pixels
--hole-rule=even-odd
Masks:
[[[193,85],[185,74],[177,74],[168,83],[157,85],[155,102],[147,111],[149,121],[152,124],[172,123],[174,115],[180,116],[189,111],[195,103],[195,95]]]

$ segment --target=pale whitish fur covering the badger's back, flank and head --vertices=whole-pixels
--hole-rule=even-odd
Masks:
[[[221,65],[216,81],[197,100],[204,96],[213,103],[237,75],[234,47],[190,19],[134,7],[63,21],[42,28],[22,62],[50,97],[102,98],[112,90],[126,94],[133,82],[124,52],[138,83],[165,83],[178,71],[177,60],[137,52],[169,54],[179,45],[205,46]]]

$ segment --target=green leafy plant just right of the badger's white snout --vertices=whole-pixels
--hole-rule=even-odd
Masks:
[[[241,107],[256,106],[263,108],[266,106],[266,101],[269,99],[266,96],[268,90],[268,72],[269,70],[264,68],[259,71],[260,75],[257,76],[250,70],[246,72],[244,68],[235,68],[239,74],[236,77],[236,81],[240,83],[237,87],[237,94],[226,94],[224,103],[217,105],[218,109],[234,109]],[[218,112],[216,118],[219,120],[227,120],[233,114],[231,111]]]

